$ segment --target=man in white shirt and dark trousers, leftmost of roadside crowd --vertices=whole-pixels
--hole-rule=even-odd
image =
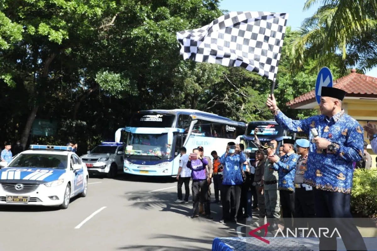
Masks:
[[[190,178],[191,178],[191,169],[187,167],[187,162],[189,161],[189,155],[186,154],[186,148],[181,147],[181,157],[179,158],[179,169],[176,179],[178,180],[178,199],[174,201],[175,203],[189,204],[190,196]],[[185,184],[185,199],[182,201],[182,184]]]

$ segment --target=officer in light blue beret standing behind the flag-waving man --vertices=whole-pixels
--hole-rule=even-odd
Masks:
[[[294,225],[297,228],[308,227],[308,224],[313,223],[309,222],[308,219],[316,216],[313,187],[303,183],[304,174],[308,169],[309,146],[310,142],[305,138],[296,140],[297,154],[300,155],[300,158],[297,160],[296,174],[294,175]]]

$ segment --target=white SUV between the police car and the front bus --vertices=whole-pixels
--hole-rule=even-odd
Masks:
[[[80,157],[90,174],[104,173],[114,178],[118,170],[123,170],[123,143],[103,142]]]

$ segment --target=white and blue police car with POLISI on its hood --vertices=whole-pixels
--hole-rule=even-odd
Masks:
[[[0,170],[0,205],[44,205],[65,209],[85,197],[88,171],[70,146],[30,145]]]

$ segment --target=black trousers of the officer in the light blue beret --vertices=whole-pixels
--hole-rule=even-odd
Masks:
[[[316,217],[314,205],[314,191],[307,191],[305,187],[296,188],[294,195],[294,225],[297,228],[313,227],[313,218]]]

